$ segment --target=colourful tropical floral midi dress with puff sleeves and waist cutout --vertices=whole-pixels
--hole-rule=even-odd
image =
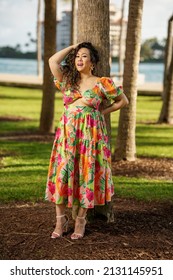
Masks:
[[[53,143],[48,171],[46,199],[67,207],[93,208],[111,201],[114,186],[111,152],[104,116],[103,99],[114,100],[123,92],[111,78],[98,78],[83,93],[88,106],[72,104],[81,94],[55,80],[63,94],[64,112]]]

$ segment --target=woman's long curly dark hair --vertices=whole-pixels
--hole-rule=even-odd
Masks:
[[[70,85],[73,89],[78,88],[78,81],[80,80],[80,74],[75,67],[75,57],[81,48],[87,48],[90,52],[91,62],[94,66],[92,74],[96,73],[96,65],[99,61],[98,51],[90,42],[83,42],[79,44],[65,57],[62,63],[63,80],[67,87]]]

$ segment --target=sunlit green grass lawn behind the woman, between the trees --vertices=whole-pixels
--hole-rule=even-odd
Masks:
[[[41,90],[0,87],[0,117],[22,117],[20,121],[0,121],[0,134],[37,132],[41,109]],[[156,124],[160,97],[137,99],[137,156],[173,158],[172,126]],[[56,95],[55,125],[63,110]],[[111,115],[112,149],[118,125],[117,112]],[[0,140],[0,202],[43,201],[52,143]],[[144,178],[113,178],[118,196],[143,200],[173,200],[172,181]]]

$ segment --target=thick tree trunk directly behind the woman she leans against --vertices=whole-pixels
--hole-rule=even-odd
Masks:
[[[78,42],[90,41],[100,53],[98,76],[110,75],[109,0],[78,0]],[[106,104],[105,104],[106,105]],[[110,137],[110,116],[106,118]],[[114,221],[112,204],[95,207],[95,211]]]

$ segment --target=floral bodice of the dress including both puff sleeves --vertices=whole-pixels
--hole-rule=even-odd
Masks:
[[[93,88],[84,91],[82,94],[70,86],[66,87],[64,82],[56,79],[54,79],[54,82],[63,94],[64,105],[71,104],[79,98],[84,98],[89,106],[98,109],[103,99],[114,100],[123,92],[122,86],[117,87],[114,81],[108,77],[98,78]]]

